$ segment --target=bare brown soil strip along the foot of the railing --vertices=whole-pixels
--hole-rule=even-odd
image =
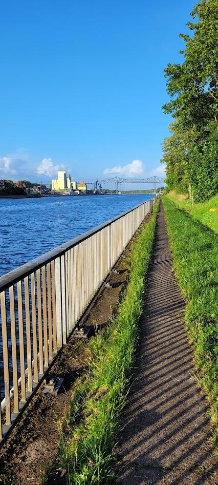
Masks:
[[[145,218],[146,223],[150,216]],[[143,224],[137,231],[141,232]],[[137,237],[136,234],[136,237]],[[127,256],[135,238],[129,243],[123,256],[107,281],[112,288],[104,285],[93,303],[81,319],[80,326],[91,327],[91,335],[100,331],[112,314],[116,313],[118,303],[128,279]],[[42,386],[32,399],[21,421],[16,425],[0,453],[0,483],[4,485],[39,485],[48,470],[56,463],[59,431],[57,420],[63,419],[70,409],[70,399],[75,380],[85,373],[89,353],[88,340],[72,334],[68,343],[52,366],[49,377],[63,377],[64,383],[58,395],[43,394]],[[47,483],[61,485],[65,477],[53,469]]]

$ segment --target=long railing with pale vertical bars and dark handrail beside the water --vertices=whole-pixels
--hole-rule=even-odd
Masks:
[[[0,278],[0,442],[154,202],[152,198]]]

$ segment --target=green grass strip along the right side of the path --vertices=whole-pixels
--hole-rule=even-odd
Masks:
[[[218,236],[163,198],[175,273],[186,300],[199,383],[211,404],[218,445]],[[216,448],[217,449],[217,448]]]

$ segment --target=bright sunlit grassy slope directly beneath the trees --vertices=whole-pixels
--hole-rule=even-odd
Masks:
[[[192,203],[188,199],[183,200],[176,192],[169,192],[166,197],[188,211],[192,217],[198,219],[213,231],[218,232],[218,210],[210,211],[211,208],[218,209],[218,193],[208,201],[199,204]]]

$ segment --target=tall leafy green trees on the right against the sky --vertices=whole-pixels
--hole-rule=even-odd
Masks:
[[[218,189],[217,0],[201,0],[187,22],[181,64],[165,69],[170,101],[163,106],[174,121],[163,142],[167,188],[203,201]]]

